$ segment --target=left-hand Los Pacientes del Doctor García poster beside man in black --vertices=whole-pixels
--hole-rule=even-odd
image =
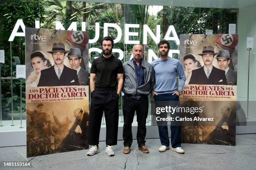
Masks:
[[[87,32],[26,28],[27,157],[88,149]]]

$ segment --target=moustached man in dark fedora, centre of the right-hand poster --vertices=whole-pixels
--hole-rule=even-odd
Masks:
[[[202,53],[204,66],[199,69],[193,70],[189,84],[196,85],[228,85],[225,76],[225,71],[220,70],[212,65],[214,56],[218,53],[214,52],[214,47],[205,46]]]

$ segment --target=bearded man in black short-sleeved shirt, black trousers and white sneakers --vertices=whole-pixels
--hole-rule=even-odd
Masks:
[[[103,55],[93,60],[90,72],[91,105],[88,143],[92,148],[87,152],[88,156],[100,152],[98,144],[103,111],[107,133],[105,152],[108,156],[115,155],[112,146],[117,144],[118,137],[118,98],[123,87],[123,65],[112,55],[114,41],[111,37],[104,37],[101,46]]]

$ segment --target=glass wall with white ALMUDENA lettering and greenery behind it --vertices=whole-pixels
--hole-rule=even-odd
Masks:
[[[175,37],[175,33],[177,37],[181,34],[205,34],[205,30],[212,30],[214,34],[228,33],[228,24],[237,24],[238,18],[238,10],[232,9],[64,0],[8,0],[0,4],[0,9],[2,9],[0,12],[0,50],[5,50],[5,64],[1,67],[3,120],[12,118],[12,110],[13,118],[20,119],[20,80],[13,79],[12,96],[10,77],[11,75],[15,77],[15,65],[25,64],[25,38],[16,36],[13,41],[8,41],[18,19],[23,20],[24,25],[30,28],[35,28],[35,20],[39,20],[40,27],[48,29],[55,29],[56,21],[60,21],[65,29],[68,29],[72,22],[76,22],[77,30],[82,30],[82,22],[86,22],[86,31],[90,35],[89,62],[92,63],[92,60],[100,56],[97,51],[101,49],[100,42],[104,37],[104,32],[118,39],[113,53],[122,62],[131,58],[131,50],[135,43],[143,44],[144,58],[150,62],[154,60],[154,57],[159,57],[156,38],[152,36],[157,36],[156,32],[159,32],[160,39],[168,36]],[[106,23],[113,23],[116,26],[113,28],[112,25],[107,28]],[[172,32],[169,32],[170,25],[174,26]],[[151,35],[147,32],[143,34],[146,27],[151,30]],[[23,32],[21,27],[18,32]],[[129,36],[128,32],[134,33]],[[129,43],[127,37],[133,42]],[[173,50],[170,55],[178,59],[177,41],[170,40],[169,42]],[[12,60],[12,69],[10,60]],[[90,63],[88,63],[89,70]],[[25,80],[21,83],[23,119],[25,119]],[[122,119],[121,104],[122,97],[119,101],[120,121]]]

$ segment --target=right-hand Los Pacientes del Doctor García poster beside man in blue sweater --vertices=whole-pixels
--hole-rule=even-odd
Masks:
[[[197,116],[214,119],[182,126],[182,142],[236,145],[238,35],[180,35],[180,61],[181,105],[204,107]]]

